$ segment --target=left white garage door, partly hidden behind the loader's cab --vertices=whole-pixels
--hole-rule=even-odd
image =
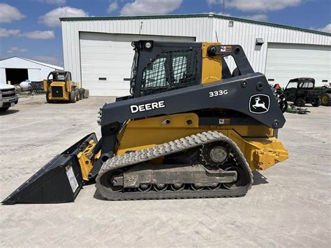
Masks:
[[[127,96],[134,51],[132,41],[195,41],[193,37],[80,33],[82,86],[91,96]]]

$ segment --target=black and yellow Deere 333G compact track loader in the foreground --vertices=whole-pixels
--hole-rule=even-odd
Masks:
[[[101,140],[82,138],[3,203],[73,201],[94,180],[108,200],[244,196],[253,170],[288,158],[281,100],[240,45],[132,45],[131,95],[103,105]]]

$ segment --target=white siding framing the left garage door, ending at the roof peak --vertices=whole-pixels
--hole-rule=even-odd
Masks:
[[[80,32],[184,36],[194,37],[196,41],[210,41],[213,33],[212,23],[212,18],[205,17],[61,22],[64,69],[71,71],[73,80],[81,80]]]

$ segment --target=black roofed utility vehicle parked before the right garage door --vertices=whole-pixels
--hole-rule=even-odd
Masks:
[[[297,107],[304,107],[306,103],[318,107],[321,105],[323,92],[315,89],[314,78],[294,78],[286,85],[284,94],[286,101],[292,101]]]

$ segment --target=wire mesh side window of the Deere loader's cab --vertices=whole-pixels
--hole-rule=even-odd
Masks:
[[[162,52],[142,72],[140,95],[146,96],[196,85],[197,52]]]

